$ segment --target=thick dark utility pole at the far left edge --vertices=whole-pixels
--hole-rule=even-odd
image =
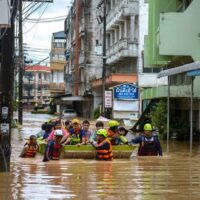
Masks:
[[[0,35],[0,172],[10,170],[12,91],[14,80],[14,19],[17,1],[11,1],[10,26]]]

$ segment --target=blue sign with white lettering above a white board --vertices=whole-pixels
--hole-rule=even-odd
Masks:
[[[135,100],[138,99],[138,88],[133,84],[121,84],[114,87],[114,99]]]

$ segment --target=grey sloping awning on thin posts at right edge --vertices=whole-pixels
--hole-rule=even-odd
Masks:
[[[182,65],[180,67],[174,67],[172,69],[163,70],[160,73],[158,73],[158,78],[161,78],[164,76],[172,76],[175,74],[181,74],[181,73],[196,70],[196,69],[200,69],[200,61]]]

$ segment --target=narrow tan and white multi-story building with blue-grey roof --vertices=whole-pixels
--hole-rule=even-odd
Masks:
[[[50,92],[52,95],[64,94],[64,68],[66,36],[64,31],[53,33],[50,53],[50,70],[52,80],[50,82]]]

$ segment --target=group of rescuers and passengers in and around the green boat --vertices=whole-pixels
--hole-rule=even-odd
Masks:
[[[144,132],[138,137],[128,141],[126,135],[128,130],[120,126],[116,120],[108,122],[108,129],[104,128],[104,122],[97,121],[96,130],[90,130],[90,122],[79,119],[67,120],[60,119],[46,122],[42,125],[42,131],[37,135],[31,135],[25,144],[21,157],[34,157],[38,145],[37,138],[42,137],[47,145],[43,161],[57,160],[60,157],[63,145],[92,145],[97,152],[97,160],[112,160],[112,145],[120,144],[140,144],[138,149],[139,156],[162,156],[162,148],[157,135],[152,134],[153,128],[150,123],[144,125]]]

